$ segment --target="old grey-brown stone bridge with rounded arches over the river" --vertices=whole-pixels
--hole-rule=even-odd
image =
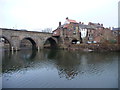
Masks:
[[[57,44],[57,39],[52,37],[52,33],[37,31],[0,28],[0,38],[8,41],[10,50],[20,50],[20,43],[23,39],[29,40],[36,49],[42,49],[47,40],[50,44]]]

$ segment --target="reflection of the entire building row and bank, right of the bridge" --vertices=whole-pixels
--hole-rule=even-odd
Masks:
[[[117,53],[78,51],[51,51],[48,58],[56,63],[59,76],[69,80],[78,74],[100,75],[106,67],[113,64],[114,60],[118,60]]]

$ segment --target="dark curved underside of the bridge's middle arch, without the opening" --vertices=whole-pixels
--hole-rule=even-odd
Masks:
[[[31,43],[31,45],[32,45],[32,49],[37,49],[37,43],[36,43],[36,41],[33,39],[33,38],[31,38],[31,37],[24,37],[23,39],[21,39],[20,40],[20,48],[22,47],[22,43],[24,42],[24,43],[27,43],[27,42],[25,42],[25,41],[23,41],[23,40],[28,40],[30,43]],[[24,46],[23,46],[24,47]]]

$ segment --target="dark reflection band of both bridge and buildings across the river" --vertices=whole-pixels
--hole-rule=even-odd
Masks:
[[[60,78],[68,80],[77,75],[101,74],[107,66],[117,60],[117,53],[88,53],[62,50],[25,50],[20,52],[3,52],[3,73],[17,71],[23,68],[42,68],[52,64],[58,70]],[[114,67],[114,66],[110,66]]]

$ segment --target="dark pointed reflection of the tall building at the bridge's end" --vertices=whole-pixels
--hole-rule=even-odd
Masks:
[[[56,62],[56,67],[60,78],[66,77],[71,80],[78,74],[80,58],[76,52],[55,52],[55,56],[52,59]]]

